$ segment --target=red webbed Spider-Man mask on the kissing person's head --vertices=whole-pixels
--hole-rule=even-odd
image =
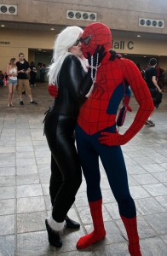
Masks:
[[[92,23],[83,30],[81,38],[83,55],[87,58],[87,52],[94,55],[97,45],[104,45],[106,51],[112,48],[112,33],[103,23]]]

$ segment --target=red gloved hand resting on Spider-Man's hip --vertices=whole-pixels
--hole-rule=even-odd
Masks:
[[[101,132],[102,137],[99,137],[99,141],[101,144],[105,144],[107,146],[118,146],[120,144],[120,139],[122,137],[121,134],[112,133],[112,132]]]

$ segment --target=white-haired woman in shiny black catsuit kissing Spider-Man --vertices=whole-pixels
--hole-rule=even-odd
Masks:
[[[82,182],[82,172],[74,144],[73,131],[78,111],[86,100],[92,85],[91,69],[86,67],[80,38],[83,30],[68,26],[55,40],[53,63],[49,67],[49,84],[56,84],[58,96],[55,104],[44,119],[44,133],[51,151],[51,177],[49,194],[52,212],[45,220],[49,243],[61,247],[60,230],[79,228],[80,224],[67,217]],[[104,48],[94,54],[98,65],[103,58]],[[97,60],[98,54],[98,60]]]

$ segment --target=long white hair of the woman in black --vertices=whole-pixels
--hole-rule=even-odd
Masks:
[[[55,39],[54,55],[52,64],[49,66],[49,84],[57,84],[57,75],[60,72],[60,67],[67,55],[71,55],[68,51],[70,47],[77,41],[79,35],[83,33],[83,29],[79,26],[67,26]],[[84,61],[79,58],[83,68],[85,69]]]

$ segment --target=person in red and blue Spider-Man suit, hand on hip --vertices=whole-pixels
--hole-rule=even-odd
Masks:
[[[89,38],[87,44],[85,40],[83,41],[85,38]],[[130,195],[120,145],[128,143],[141,130],[148,116],[153,112],[153,100],[134,62],[124,58],[115,58],[112,61],[109,51],[112,47],[112,34],[107,26],[101,23],[86,26],[81,40],[84,57],[93,55],[97,45],[104,45],[107,54],[98,68],[92,67],[94,89],[80,108],[76,127],[78,155],[87,183],[89,208],[94,224],[93,232],[81,237],[77,247],[78,249],[89,247],[106,236],[102,218],[100,157],[127,231],[130,255],[141,256],[135,202]],[[97,71],[96,75],[95,71]],[[125,81],[130,84],[139,103],[139,109],[130,128],[121,135],[116,128],[116,114],[124,96]]]

